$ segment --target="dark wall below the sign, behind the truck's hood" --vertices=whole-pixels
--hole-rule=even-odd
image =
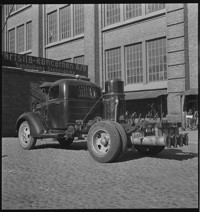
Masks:
[[[44,81],[66,78],[26,72],[21,69],[2,69],[2,136],[16,136],[15,123],[23,112],[31,111],[32,94]]]

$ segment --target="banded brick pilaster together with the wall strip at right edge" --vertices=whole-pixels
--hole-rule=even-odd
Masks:
[[[197,4],[167,4],[168,120],[182,121],[180,92],[198,87]]]

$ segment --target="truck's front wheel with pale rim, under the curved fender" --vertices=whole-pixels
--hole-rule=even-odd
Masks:
[[[18,131],[19,144],[23,149],[32,149],[36,144],[36,139],[31,136],[30,126],[27,121],[21,123]]]

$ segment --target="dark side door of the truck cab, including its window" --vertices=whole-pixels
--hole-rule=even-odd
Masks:
[[[47,122],[51,129],[62,128],[62,114],[60,111],[59,85],[50,88],[47,109]]]

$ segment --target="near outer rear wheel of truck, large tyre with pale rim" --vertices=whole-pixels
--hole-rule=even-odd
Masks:
[[[112,162],[119,155],[120,135],[112,123],[99,121],[88,132],[87,146],[90,155],[100,163]]]

